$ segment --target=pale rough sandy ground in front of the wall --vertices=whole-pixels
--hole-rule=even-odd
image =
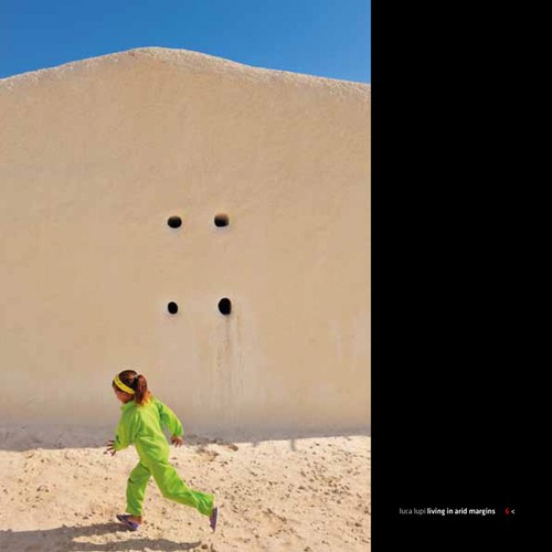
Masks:
[[[134,447],[110,456],[103,432],[0,427],[0,550],[95,552],[208,550],[367,551],[371,548],[371,438],[367,435],[233,440],[185,436],[171,460],[213,492],[215,533],[151,480],[145,523],[126,530]]]

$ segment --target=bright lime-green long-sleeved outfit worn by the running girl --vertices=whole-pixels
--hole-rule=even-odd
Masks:
[[[169,444],[163,426],[171,435],[182,437],[182,424],[161,401],[151,397],[138,406],[135,401],[124,404],[116,429],[115,450],[123,450],[131,443],[140,461],[132,469],[127,482],[127,512],[141,516],[146,487],[151,476],[161,495],[184,506],[191,506],[204,516],[213,511],[213,496],[191,490],[169,464]]]

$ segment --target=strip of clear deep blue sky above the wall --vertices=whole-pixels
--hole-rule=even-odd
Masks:
[[[132,47],[371,82],[371,0],[0,0],[0,78]]]

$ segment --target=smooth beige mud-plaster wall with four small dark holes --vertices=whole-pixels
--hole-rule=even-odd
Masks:
[[[113,424],[132,368],[187,432],[368,427],[370,106],[161,49],[0,81],[0,418]]]

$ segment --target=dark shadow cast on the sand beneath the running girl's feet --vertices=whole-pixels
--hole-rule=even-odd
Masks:
[[[78,542],[75,539],[98,537],[107,533],[123,532],[127,540],[112,541],[103,544]],[[135,537],[137,533],[121,530],[119,523],[97,523],[84,527],[61,527],[36,531],[0,530],[0,550],[10,552],[47,551],[47,552],[119,552],[126,550],[159,550],[162,552],[180,552],[193,550],[200,542],[173,542],[167,539],[146,539]]]

